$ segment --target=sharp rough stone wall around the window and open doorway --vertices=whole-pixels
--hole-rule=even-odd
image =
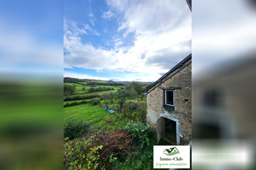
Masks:
[[[156,87],[159,84],[157,83],[156,88],[152,87],[150,90],[154,90],[147,93],[147,125],[156,128],[160,114],[178,119],[178,133],[183,137],[180,138],[181,145],[189,143],[192,137],[192,64],[189,62],[191,59],[187,61],[187,66],[185,66],[187,63],[184,63],[184,68],[174,70],[168,75],[174,74],[173,76],[162,80],[164,83],[158,87]],[[162,89],[173,87],[179,88],[175,89],[175,110],[164,107],[164,89]]]

